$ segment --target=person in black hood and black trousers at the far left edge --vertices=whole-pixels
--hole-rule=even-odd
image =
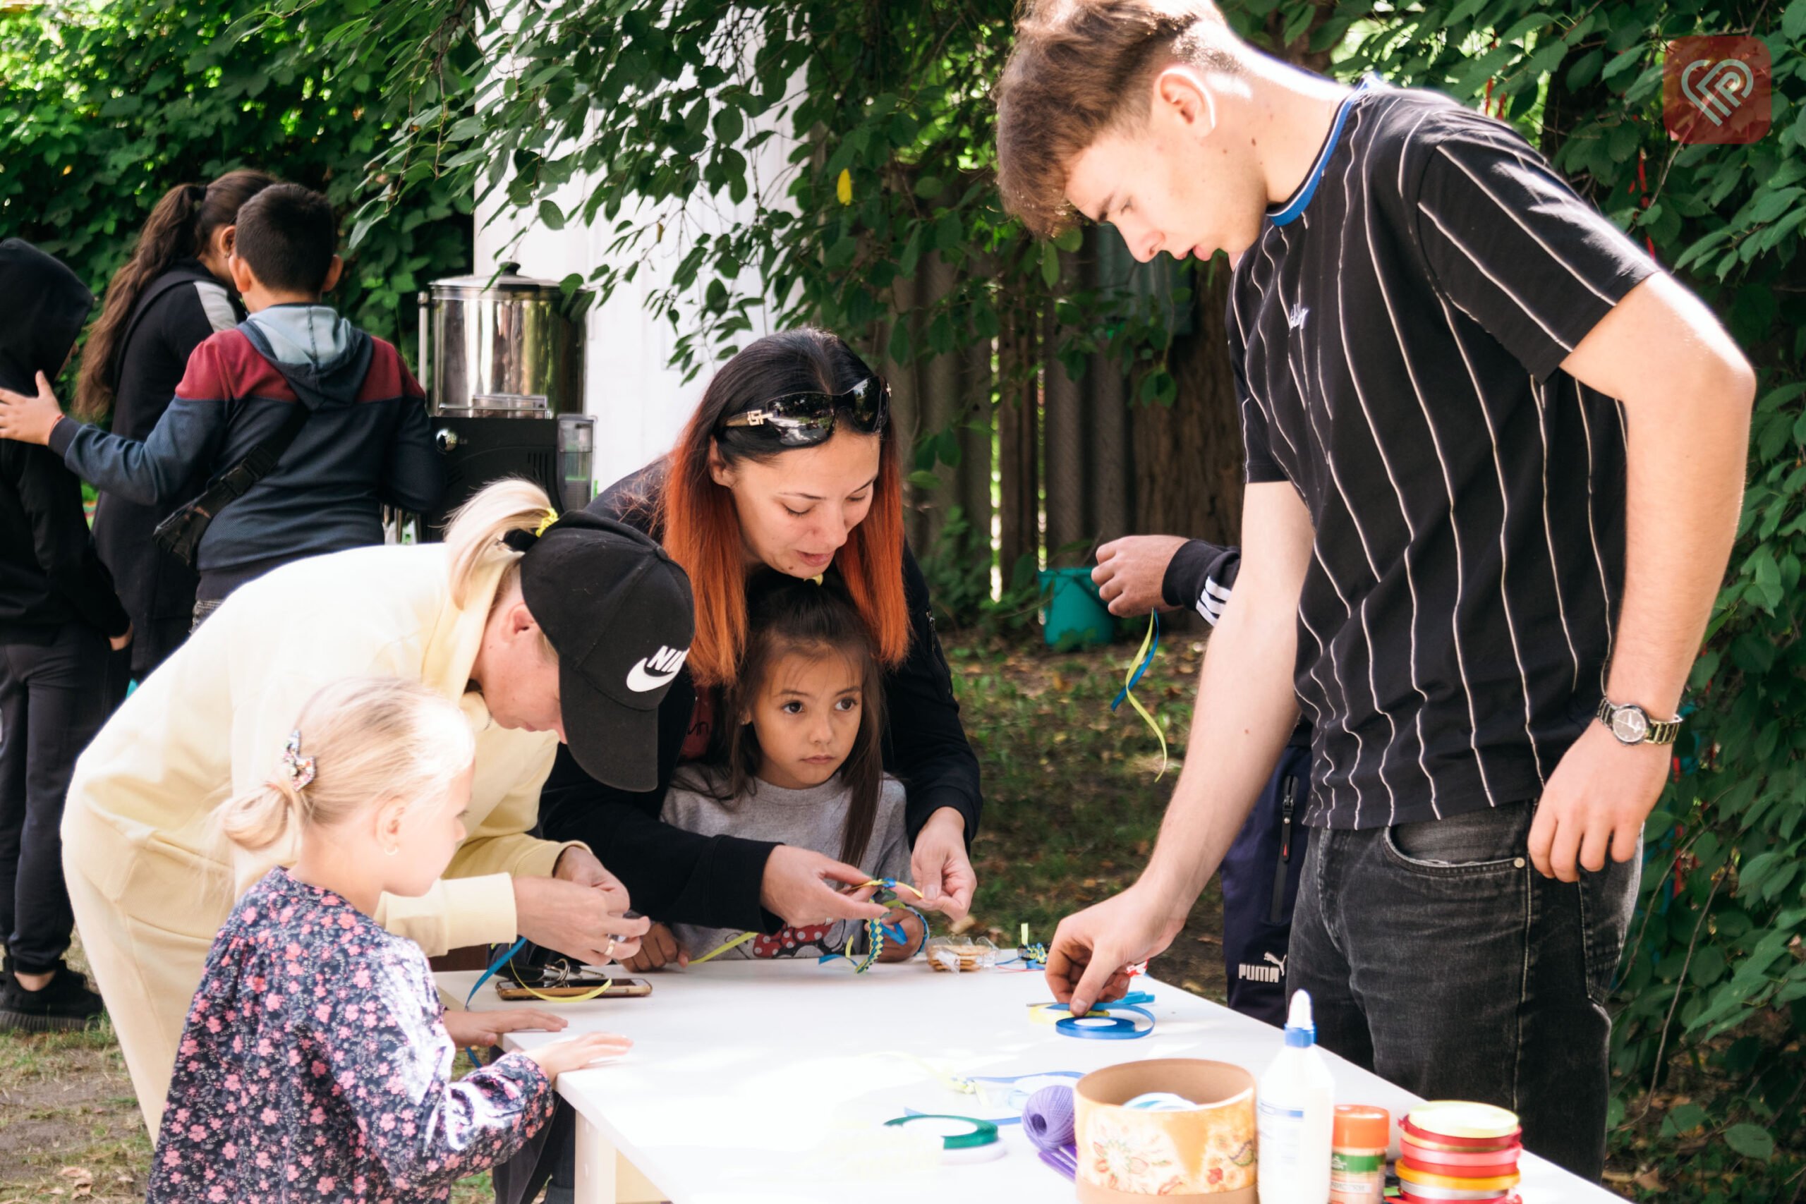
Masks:
[[[0,386],[63,370],[94,296],[27,242],[0,242]],[[81,482],[0,440],[0,1031],[78,1029],[101,998],[63,964],[76,921],[63,886],[63,796],[108,711],[108,646],[132,621],[94,554]]]

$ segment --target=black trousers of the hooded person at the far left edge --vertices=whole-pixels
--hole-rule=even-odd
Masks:
[[[14,971],[51,973],[69,949],[63,798],[123,693],[126,655],[81,623],[42,646],[0,644],[0,937]]]

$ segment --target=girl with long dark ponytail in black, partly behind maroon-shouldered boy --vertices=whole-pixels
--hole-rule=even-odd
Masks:
[[[98,422],[112,413],[114,435],[150,439],[193,350],[244,321],[228,265],[238,208],[275,182],[264,171],[237,170],[163,195],[132,258],[107,285],[101,316],[83,347],[72,415]],[[103,489],[94,507],[94,547],[132,616],[137,681],[188,639],[195,612],[195,570],[150,534],[204,487],[202,477],[152,505]]]

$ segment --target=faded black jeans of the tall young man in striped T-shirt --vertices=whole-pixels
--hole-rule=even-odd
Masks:
[[[1427,1099],[1512,1108],[1524,1146],[1606,1166],[1606,995],[1642,861],[1580,883],[1530,865],[1535,803],[1364,832],[1317,830],[1289,986],[1317,1038]]]

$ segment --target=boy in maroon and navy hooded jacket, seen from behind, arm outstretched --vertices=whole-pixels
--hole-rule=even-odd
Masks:
[[[233,280],[251,316],[188,359],[175,399],[144,442],[108,435],[36,397],[0,390],[0,435],[45,442],[79,477],[146,505],[181,498],[204,473],[255,484],[215,505],[200,536],[195,623],[271,569],[383,542],[383,504],[430,511],[444,487],[419,383],[392,343],[340,318],[320,296],[338,282],[332,206],[273,184],[238,209]],[[305,419],[280,442],[296,406]],[[211,493],[211,491],[209,491]]]

